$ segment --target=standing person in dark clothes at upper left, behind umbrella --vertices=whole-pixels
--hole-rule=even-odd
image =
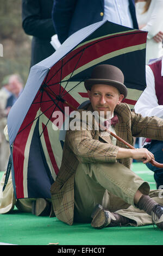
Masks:
[[[51,37],[55,34],[52,22],[53,0],[22,0],[22,27],[32,35],[30,66],[54,53]]]

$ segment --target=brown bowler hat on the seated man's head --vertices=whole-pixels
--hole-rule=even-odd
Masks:
[[[126,97],[127,87],[123,83],[123,73],[117,66],[103,64],[93,69],[91,78],[85,80],[84,86],[86,90],[91,90],[93,84],[108,84],[108,86],[116,87],[120,94]]]

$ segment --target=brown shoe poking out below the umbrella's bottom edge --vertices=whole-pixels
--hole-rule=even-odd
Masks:
[[[36,216],[49,216],[51,213],[51,203],[44,198],[38,198],[33,201],[32,213]]]

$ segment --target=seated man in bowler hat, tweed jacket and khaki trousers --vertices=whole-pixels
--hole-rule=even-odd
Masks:
[[[99,65],[85,81],[91,103],[80,109],[76,130],[66,132],[62,163],[51,187],[55,215],[62,222],[91,222],[92,227],[146,225],[154,222],[163,229],[163,199],[160,190],[150,191],[148,182],[130,170],[130,158],[143,163],[154,160],[147,149],[129,149],[109,132],[95,129],[91,112],[108,112],[114,117],[111,130],[129,144],[134,137],[163,140],[163,120],[130,111],[122,71]],[[82,113],[88,115],[82,129]],[[104,120],[105,123],[108,120]],[[142,211],[143,210],[143,211]]]

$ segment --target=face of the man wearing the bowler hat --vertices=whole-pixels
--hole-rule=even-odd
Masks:
[[[114,113],[116,105],[121,103],[124,95],[120,94],[118,90],[113,86],[108,86],[106,84],[94,84],[91,91],[87,91],[93,111],[104,111],[104,116],[106,117],[106,112],[110,111],[111,115]]]

